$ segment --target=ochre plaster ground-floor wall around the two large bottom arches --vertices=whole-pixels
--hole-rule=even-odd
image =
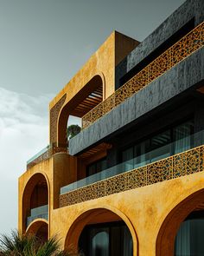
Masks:
[[[203,172],[190,174],[175,180],[55,209],[51,213],[50,231],[51,234],[59,234],[62,238],[61,245],[64,246],[67,233],[72,227],[73,244],[74,241],[77,243],[79,239],[76,235],[77,230],[86,225],[86,217],[80,218],[81,214],[90,209],[106,208],[113,213],[121,213],[124,218],[122,220],[129,225],[131,233],[134,232],[133,255],[153,256],[156,255],[157,235],[167,215],[190,194],[202,189],[203,182]],[[101,214],[101,219],[98,221],[103,222],[103,218]]]

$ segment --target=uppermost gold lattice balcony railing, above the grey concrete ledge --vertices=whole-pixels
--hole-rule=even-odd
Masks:
[[[112,108],[117,107],[131,95],[137,93],[143,87],[156,80],[160,75],[174,67],[177,63],[190,56],[195,50],[201,49],[204,45],[204,23],[198,25],[191,30],[180,41],[175,43],[169,49],[158,56],[153,62],[142,69],[131,80],[124,83],[122,87],[115,91],[111,96],[92,108],[86,115],[82,117],[82,128],[87,128],[94,121],[107,114]]]

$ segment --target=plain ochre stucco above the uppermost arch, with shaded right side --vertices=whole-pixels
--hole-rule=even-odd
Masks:
[[[49,104],[49,108],[53,108],[61,97],[67,93],[67,99],[64,103],[66,105],[94,75],[103,75],[105,78],[105,98],[112,95],[115,91],[115,66],[138,44],[137,40],[113,31],[76,75],[54,97]]]

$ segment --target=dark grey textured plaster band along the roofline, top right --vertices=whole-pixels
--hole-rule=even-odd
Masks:
[[[116,88],[118,88],[119,79],[134,68],[146,56],[165,42],[170,36],[182,28],[194,18],[194,26],[197,26],[204,20],[204,1],[188,0],[183,3],[172,15],[170,15],[150,36],[147,36],[136,49],[120,62],[116,68]]]

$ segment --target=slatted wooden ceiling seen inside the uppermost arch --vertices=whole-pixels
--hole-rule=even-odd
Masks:
[[[74,108],[71,115],[82,117],[92,108],[96,107],[100,102],[103,101],[103,87],[100,86],[88,95],[80,104]]]

